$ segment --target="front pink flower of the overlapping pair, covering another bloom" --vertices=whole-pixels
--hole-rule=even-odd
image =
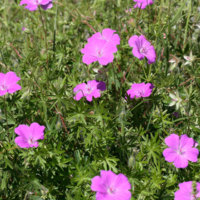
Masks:
[[[89,65],[99,61],[101,65],[107,65],[114,59],[113,53],[117,52],[117,47],[111,42],[103,39],[91,38],[90,42],[81,50],[84,54],[82,61]]]

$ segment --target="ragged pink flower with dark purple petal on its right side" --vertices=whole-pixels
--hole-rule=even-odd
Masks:
[[[106,90],[106,84],[103,81],[88,81],[87,84],[81,83],[74,88],[76,92],[75,100],[79,101],[82,97],[86,97],[88,101],[92,101],[92,97],[98,98],[101,96],[100,91]]]

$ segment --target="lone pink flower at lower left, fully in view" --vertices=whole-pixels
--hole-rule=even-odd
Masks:
[[[21,148],[38,147],[37,140],[44,139],[44,126],[34,122],[29,126],[19,125],[15,128],[15,133],[19,135],[15,138],[15,143]]]

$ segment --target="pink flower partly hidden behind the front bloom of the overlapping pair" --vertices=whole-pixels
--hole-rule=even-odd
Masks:
[[[103,39],[106,42],[111,42],[115,45],[120,44],[120,37],[118,34],[114,34],[115,30],[110,28],[103,29],[102,34],[100,32],[95,33],[92,37],[88,38],[88,42],[91,42],[93,39]]]

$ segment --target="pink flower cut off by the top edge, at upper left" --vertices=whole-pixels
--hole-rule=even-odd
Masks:
[[[20,6],[27,4],[25,8],[30,11],[37,10],[37,7],[41,5],[42,9],[47,10],[53,7],[52,0],[21,0]]]

